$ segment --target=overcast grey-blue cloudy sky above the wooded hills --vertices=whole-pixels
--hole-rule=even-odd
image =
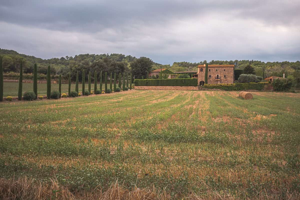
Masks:
[[[299,0],[0,0],[0,48],[41,58],[90,53],[300,60]]]

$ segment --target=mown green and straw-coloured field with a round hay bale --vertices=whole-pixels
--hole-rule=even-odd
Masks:
[[[133,90],[0,103],[0,199],[299,198],[300,95],[237,96]]]

